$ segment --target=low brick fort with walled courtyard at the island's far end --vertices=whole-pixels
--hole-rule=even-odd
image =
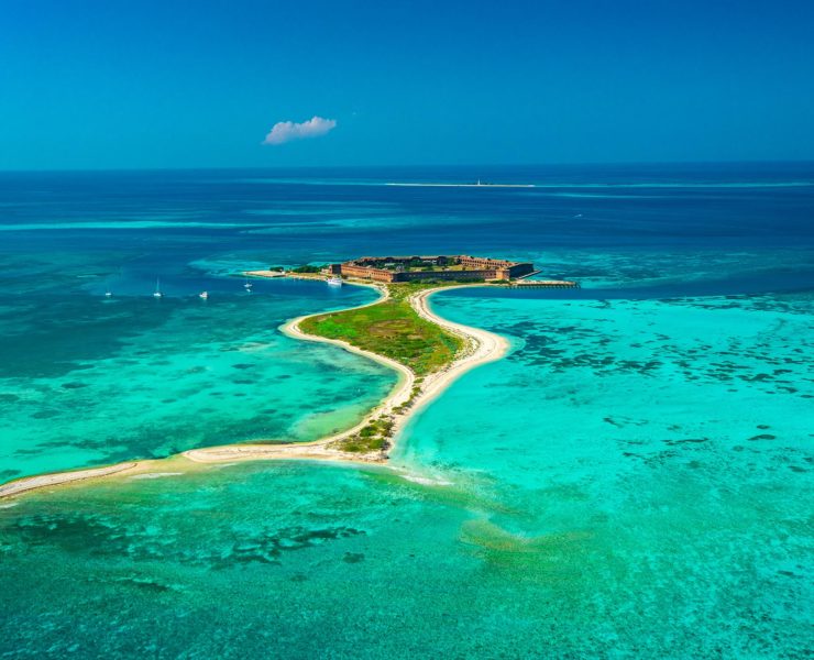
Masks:
[[[334,275],[373,282],[415,282],[417,279],[502,279],[530,275],[535,266],[484,256],[363,256],[331,265]]]

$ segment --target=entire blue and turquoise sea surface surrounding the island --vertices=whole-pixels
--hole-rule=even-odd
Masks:
[[[373,294],[235,274],[461,252],[583,289],[436,296],[513,349],[395,471],[0,503],[0,654],[811,652],[812,164],[0,174],[0,481],[351,426],[394,375],[277,328]]]

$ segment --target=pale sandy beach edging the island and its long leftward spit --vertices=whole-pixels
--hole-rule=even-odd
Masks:
[[[263,275],[256,276],[262,277]],[[353,282],[349,284],[351,286],[367,286],[375,288],[382,294],[382,296],[372,302],[348,309],[362,309],[364,307],[378,305],[380,302],[387,300],[389,297],[389,293],[386,287],[364,282]],[[85,470],[72,470],[67,472],[26,476],[0,485],[0,499],[50,486],[62,486],[90,479],[101,479],[132,472],[136,469],[148,470],[151,466],[162,464],[164,461],[178,458],[186,459],[191,463],[208,464],[263,460],[316,460],[358,464],[386,464],[389,460],[388,453],[397,446],[402,431],[418,411],[437,398],[447,387],[464,373],[481,366],[482,364],[499,360],[509,349],[509,342],[498,334],[494,334],[487,330],[449,321],[437,316],[431,310],[429,297],[433,294],[441,290],[471,286],[479,285],[461,284],[457,286],[440,286],[418,292],[408,298],[410,306],[421,318],[438,324],[464,340],[464,349],[461,354],[447,367],[425,376],[417,386],[418,392],[415,396],[413,394],[413,389],[416,387],[416,374],[404,364],[384,355],[359,349],[341,340],[306,334],[300,330],[299,323],[304,319],[309,318],[310,316],[320,316],[324,312],[297,317],[279,328],[280,332],[288,337],[301,341],[334,344],[351,353],[374,360],[375,362],[398,373],[398,381],[391,393],[377,406],[367,413],[362,420],[350,429],[310,442],[286,442],[280,444],[252,442],[245,444],[204,447],[199,449],[190,449],[165,459],[127,461],[102,468],[89,468]],[[410,397],[414,397],[413,405],[407,409],[402,409],[402,411],[396,413],[395,409],[400,408],[400,406],[403,406],[403,404],[405,404]],[[386,450],[359,453],[344,451],[334,447],[337,442],[358,433],[373,419],[376,419],[382,415],[387,415],[393,420],[392,441]]]

